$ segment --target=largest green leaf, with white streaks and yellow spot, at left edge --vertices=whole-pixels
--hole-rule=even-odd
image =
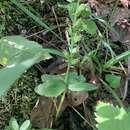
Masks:
[[[32,65],[50,58],[36,42],[21,36],[8,36],[0,39],[0,59],[6,58],[0,70],[0,96]],[[6,80],[5,80],[6,79]]]

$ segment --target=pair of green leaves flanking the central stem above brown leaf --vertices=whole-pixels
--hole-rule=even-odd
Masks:
[[[92,91],[96,90],[94,84],[86,83],[83,75],[76,72],[70,72],[68,76],[68,84],[65,83],[65,74],[63,75],[43,75],[42,81],[35,88],[35,92],[42,96],[57,97],[66,89],[71,91]]]

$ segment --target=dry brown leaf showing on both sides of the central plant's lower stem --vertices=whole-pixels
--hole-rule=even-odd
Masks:
[[[79,106],[88,98],[87,92],[69,91],[61,108],[63,112],[68,106]],[[59,104],[60,100],[56,104]],[[39,97],[35,107],[31,112],[31,121],[33,127],[51,128],[55,117],[55,106],[51,98]]]

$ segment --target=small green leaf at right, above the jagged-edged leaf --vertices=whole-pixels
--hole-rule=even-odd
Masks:
[[[121,77],[114,74],[105,75],[105,80],[112,88],[117,88],[120,85]]]

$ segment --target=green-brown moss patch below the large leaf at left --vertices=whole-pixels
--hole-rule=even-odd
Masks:
[[[12,116],[19,122],[29,119],[30,112],[37,100],[34,88],[38,83],[38,73],[31,68],[16,81],[5,97],[0,98],[0,129],[8,123]]]

